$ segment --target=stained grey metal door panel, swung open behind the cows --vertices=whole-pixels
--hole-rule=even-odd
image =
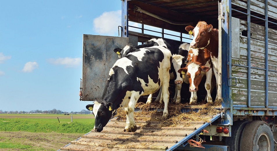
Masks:
[[[118,60],[114,48],[123,48],[126,37],[83,35],[82,100],[101,98],[109,70]]]

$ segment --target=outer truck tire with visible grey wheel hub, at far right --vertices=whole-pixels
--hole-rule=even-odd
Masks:
[[[264,121],[251,121],[244,127],[240,139],[240,151],[274,151],[274,138]]]

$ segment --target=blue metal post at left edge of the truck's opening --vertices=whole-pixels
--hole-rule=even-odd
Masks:
[[[121,26],[123,27],[123,37],[128,37],[128,2],[122,0]]]

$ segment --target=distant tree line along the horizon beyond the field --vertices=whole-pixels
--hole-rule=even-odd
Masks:
[[[0,110],[0,113],[6,113],[6,114],[28,114],[28,113],[43,113],[43,114],[91,114],[92,112],[89,110],[81,110],[79,112],[64,112],[57,109],[42,111],[42,110],[31,110],[31,111],[2,111]]]

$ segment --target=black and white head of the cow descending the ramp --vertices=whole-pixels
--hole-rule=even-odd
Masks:
[[[103,127],[107,125],[108,121],[111,119],[113,110],[111,102],[98,103],[94,101],[94,104],[89,104],[86,108],[92,111],[95,121],[94,121],[94,131],[101,132]]]

